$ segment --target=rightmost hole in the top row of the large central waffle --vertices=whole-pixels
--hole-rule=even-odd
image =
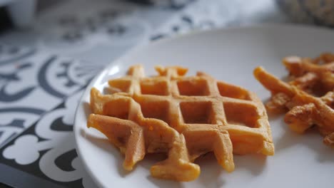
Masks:
[[[218,82],[217,87],[218,87],[219,93],[223,97],[250,100],[248,91],[236,85]]]

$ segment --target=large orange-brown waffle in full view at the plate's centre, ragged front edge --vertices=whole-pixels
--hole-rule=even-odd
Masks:
[[[205,73],[186,77],[186,68],[156,67],[146,77],[141,66],[109,80],[111,95],[91,89],[88,127],[103,132],[125,154],[131,170],[146,153],[167,159],[151,167],[153,177],[191,181],[200,174],[197,157],[213,152],[233,171],[233,153],[273,155],[268,117],[254,93]]]

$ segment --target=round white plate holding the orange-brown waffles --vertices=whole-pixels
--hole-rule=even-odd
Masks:
[[[126,73],[128,66],[142,63],[148,75],[155,65],[181,65],[189,75],[204,71],[219,80],[241,85],[264,101],[270,93],[253,78],[253,68],[265,67],[279,78],[287,75],[284,56],[314,57],[334,49],[334,31],[305,26],[267,25],[224,28],[192,33],[136,48],[111,63],[88,86],[76,112],[74,133],[77,151],[91,177],[101,187],[332,187],[334,150],[323,145],[318,132],[291,132],[280,117],[270,117],[275,155],[236,156],[236,170],[225,172],[213,155],[196,161],[201,175],[193,182],[173,182],[150,176],[158,162],[148,156],[133,172],[122,168],[123,156],[100,132],[86,127],[89,90],[103,90],[106,80]],[[334,123],[334,122],[333,122]],[[161,158],[160,158],[161,160]]]

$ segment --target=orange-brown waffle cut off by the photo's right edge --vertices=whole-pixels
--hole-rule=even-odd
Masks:
[[[323,142],[333,147],[334,55],[324,53],[315,59],[287,57],[283,64],[290,73],[288,83],[261,67],[255,68],[255,78],[271,92],[265,107],[273,113],[288,112],[284,120],[295,132],[317,126],[325,137]]]

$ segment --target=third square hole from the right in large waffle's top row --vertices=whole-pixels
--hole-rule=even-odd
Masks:
[[[141,94],[169,95],[167,82],[165,80],[142,80]]]

